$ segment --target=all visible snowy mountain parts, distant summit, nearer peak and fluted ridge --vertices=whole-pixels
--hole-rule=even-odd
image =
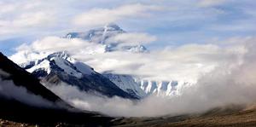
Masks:
[[[82,51],[83,54],[104,54],[115,51],[130,52],[131,54],[150,54],[150,51],[144,45],[119,46],[119,42],[109,41],[109,38],[114,38],[124,33],[129,32],[125,32],[115,24],[108,24],[85,32],[69,32],[62,38],[79,38],[90,43],[102,45],[84,49]],[[20,51],[15,54],[15,57],[11,56],[10,58],[13,61],[18,61],[21,67],[41,78],[44,83],[67,83],[77,86],[81,90],[96,92],[101,95],[117,95],[125,98],[143,98],[148,95],[172,96],[178,95],[179,90],[184,85],[189,84],[173,79],[156,81],[112,72],[100,74],[95,72],[92,67],[73,59],[72,55],[69,55],[67,51],[50,54],[37,51]],[[20,60],[26,62],[20,62]]]

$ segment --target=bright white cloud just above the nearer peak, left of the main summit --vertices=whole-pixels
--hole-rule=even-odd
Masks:
[[[33,43],[22,43],[15,48],[17,51],[9,58],[15,63],[24,63],[43,59],[47,55],[58,51],[69,51],[70,53],[96,54],[104,53],[105,46],[98,43],[89,43],[79,38],[59,38],[55,36],[38,39]]]

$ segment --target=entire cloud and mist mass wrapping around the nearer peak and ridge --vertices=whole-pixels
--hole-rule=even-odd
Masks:
[[[127,52],[84,54],[87,49],[99,49],[101,46],[80,39],[48,38],[21,45],[17,51],[55,52],[65,49],[74,58],[94,67],[97,72],[111,71],[153,80],[174,79],[193,83],[192,86],[179,89],[178,95],[170,97],[150,95],[141,101],[90,95],[67,84],[49,88],[63,100],[84,110],[111,116],[153,117],[198,113],[212,107],[230,104],[247,105],[255,102],[255,40],[256,38],[248,37],[230,38],[207,44],[189,43],[153,50],[147,54]],[[54,48],[49,46],[52,44],[55,44]],[[23,55],[13,55],[11,58],[20,61],[22,58],[20,56]],[[20,59],[15,59],[16,57]]]

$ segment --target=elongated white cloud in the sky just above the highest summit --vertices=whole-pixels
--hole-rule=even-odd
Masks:
[[[159,6],[128,4],[116,9],[90,9],[90,11],[77,15],[73,23],[78,26],[103,26],[125,18],[148,16],[150,11],[161,10]]]

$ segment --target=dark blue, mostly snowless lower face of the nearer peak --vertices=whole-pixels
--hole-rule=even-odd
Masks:
[[[124,90],[119,89],[118,86],[113,84],[108,78],[102,77],[99,73],[86,75],[83,78],[76,78],[63,74],[63,72],[60,71],[52,71],[44,79],[52,84],[58,84],[62,81],[69,85],[77,86],[80,90],[85,92],[96,91],[97,93],[107,95],[108,97],[117,95],[123,98],[138,99],[137,95],[131,95],[126,93]]]

